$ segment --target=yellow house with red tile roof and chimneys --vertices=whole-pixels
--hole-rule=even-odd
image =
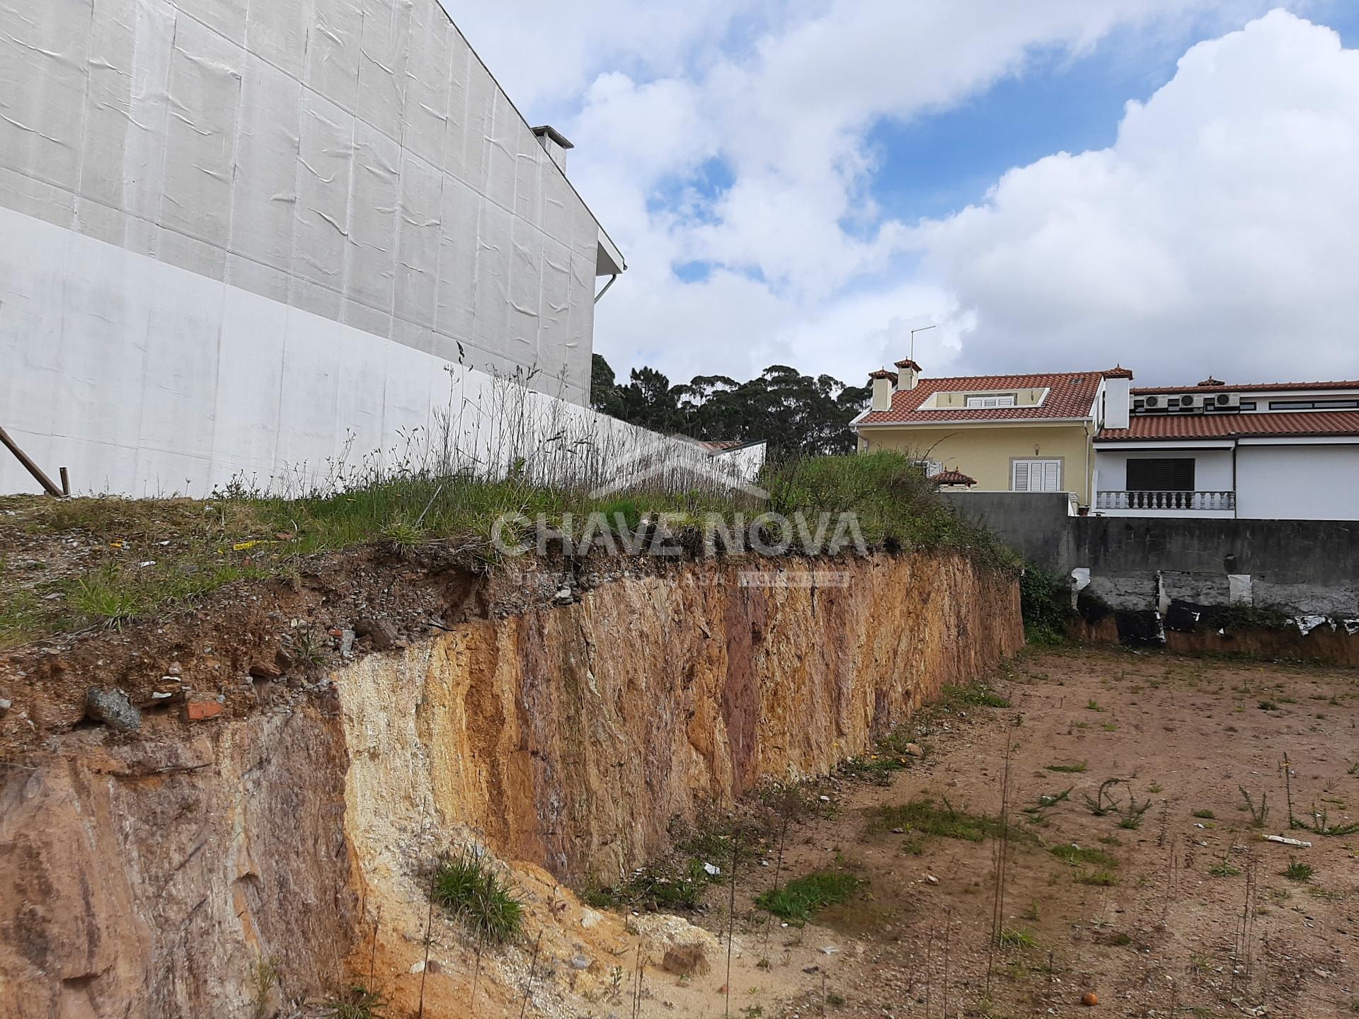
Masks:
[[[980,492],[1070,492],[1089,507],[1094,436],[1125,428],[1132,372],[925,379],[912,360],[872,372],[872,404],[852,421],[859,451],[898,450],[931,474],[959,471]]]

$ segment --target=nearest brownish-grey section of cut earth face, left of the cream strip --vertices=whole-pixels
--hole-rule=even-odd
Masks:
[[[249,1014],[264,959],[338,973],[357,882],[329,701],[137,740],[79,730],[0,769],[0,1015]]]

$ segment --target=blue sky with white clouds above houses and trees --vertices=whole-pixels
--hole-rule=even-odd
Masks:
[[[1359,0],[503,0],[618,375],[1359,378]]]

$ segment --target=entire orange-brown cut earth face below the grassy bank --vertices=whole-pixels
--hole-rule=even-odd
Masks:
[[[673,818],[828,770],[1022,644],[1015,584],[961,557],[819,565],[844,586],[814,565],[772,587],[730,562],[624,577],[370,654],[333,692],[76,728],[0,768],[0,1015],[273,1014],[260,961],[298,996],[378,955],[360,902],[406,971],[417,870],[450,841],[613,878]],[[565,914],[534,880],[530,908]],[[429,977],[427,1005],[451,980]]]

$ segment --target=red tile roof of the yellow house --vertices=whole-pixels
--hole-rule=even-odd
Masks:
[[[958,375],[946,379],[920,379],[911,390],[892,394],[887,410],[872,410],[858,424],[938,424],[958,421],[1063,421],[1090,416],[1099,391],[1101,372],[1070,371],[1045,375]],[[1042,406],[959,408],[921,410],[935,393],[976,393],[1010,389],[1049,389]]]

